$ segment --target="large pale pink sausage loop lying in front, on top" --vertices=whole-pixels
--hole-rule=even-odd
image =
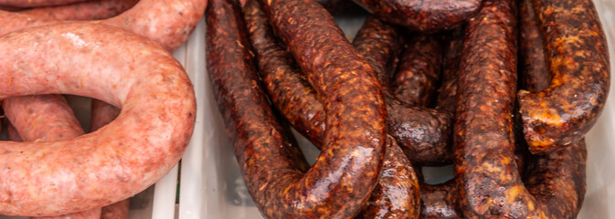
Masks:
[[[7,202],[0,214],[58,215],[116,203],[181,158],[196,99],[186,72],[163,47],[120,28],[74,23],[0,36],[0,48],[0,78],[7,81],[0,99],[66,93],[122,108],[110,125],[79,138],[1,141],[0,199]]]

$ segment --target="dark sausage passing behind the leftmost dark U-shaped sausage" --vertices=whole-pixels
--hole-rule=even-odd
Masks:
[[[265,87],[270,92],[276,92],[276,90],[281,88],[276,85],[281,84],[285,79],[273,77],[275,71],[286,69],[293,71],[293,75],[297,76],[301,73],[298,68],[292,66],[294,64],[292,62],[292,57],[278,45],[268,25],[267,16],[262,11],[258,1],[249,0],[247,4],[243,6],[243,13],[246,19],[246,26],[248,26],[252,47],[254,48],[258,60],[257,62],[260,67],[260,74],[265,81]],[[285,74],[280,74],[280,77],[285,76]],[[303,88],[311,92],[312,95],[305,99],[313,99],[313,102],[316,103],[314,105],[318,107],[318,114],[324,114],[322,104],[315,99],[313,89],[309,87],[307,81],[299,81],[300,78],[289,79],[298,80],[296,81],[297,83],[300,83]],[[292,85],[282,83],[281,86]],[[303,99],[303,97],[305,96],[295,99]],[[280,98],[274,96],[272,100],[275,105],[282,108],[284,107],[283,101],[280,101]],[[307,109],[310,109],[310,107],[307,107]],[[307,127],[307,129],[310,128],[312,127]],[[318,129],[320,127],[316,128],[317,130],[309,131],[324,131],[324,129]],[[323,132],[320,132],[317,136],[323,136],[322,133]],[[318,144],[320,142],[321,140],[318,140],[315,146],[322,149],[322,145]],[[410,162],[408,162],[408,158],[406,158],[403,151],[398,148],[395,140],[389,137],[387,143],[389,146],[383,165],[383,172],[378,181],[378,185],[376,185],[376,189],[364,207],[364,216],[366,218],[373,218],[376,217],[376,215],[379,216],[378,218],[416,218],[419,214],[419,184],[417,176]]]

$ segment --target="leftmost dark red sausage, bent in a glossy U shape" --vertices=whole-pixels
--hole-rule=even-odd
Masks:
[[[314,50],[316,57],[297,58],[302,60],[300,66],[312,69],[308,78],[323,94],[327,134],[319,160],[305,172],[302,166],[306,163],[298,158],[297,147],[287,140],[287,132],[260,89],[238,3],[211,1],[207,7],[207,72],[249,193],[266,217],[351,218],[374,190],[384,161],[385,107],[376,78],[321,5],[270,1],[267,7],[273,26],[279,33],[286,32],[282,36],[296,56],[307,55],[302,49],[314,47],[329,53]],[[290,11],[300,13],[287,14]],[[280,23],[291,17],[297,23]],[[302,19],[309,19],[310,26],[296,26],[306,24]],[[317,32],[327,34],[330,42],[319,45],[323,40],[313,36],[323,35]],[[345,79],[334,79],[338,73],[323,68],[325,62],[343,68]],[[332,82],[339,86],[332,87]]]

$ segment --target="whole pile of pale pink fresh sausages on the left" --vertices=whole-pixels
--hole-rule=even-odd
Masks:
[[[170,52],[206,6],[0,1],[0,99],[11,140],[0,141],[0,214],[128,217],[127,198],[163,177],[192,135],[194,89]],[[59,94],[93,99],[90,133]]]

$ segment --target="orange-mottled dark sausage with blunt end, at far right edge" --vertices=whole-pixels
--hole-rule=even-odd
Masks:
[[[530,151],[546,153],[579,141],[594,125],[609,93],[610,64],[591,1],[532,5],[545,38],[551,83],[536,93],[520,90],[519,114]]]

